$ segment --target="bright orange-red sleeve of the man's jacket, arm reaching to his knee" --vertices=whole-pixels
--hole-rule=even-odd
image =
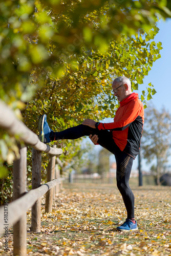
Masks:
[[[114,121],[112,123],[99,123],[97,126],[98,130],[123,131],[139,115],[141,109],[143,108],[143,105],[141,103],[142,102],[139,102],[137,100],[130,102],[130,104],[126,108],[126,111],[120,117],[120,120]],[[116,115],[119,115],[119,111],[118,113],[116,113]]]

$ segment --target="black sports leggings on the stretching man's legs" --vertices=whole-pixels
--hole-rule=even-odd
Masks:
[[[90,126],[80,124],[62,132],[55,132],[55,140],[78,139],[82,136],[89,136],[90,134],[96,134],[98,136],[98,144],[115,155],[117,166],[117,187],[122,195],[126,207],[127,218],[133,219],[134,194],[129,186],[129,179],[134,159],[120,150],[113,140],[112,132],[107,130],[99,131],[98,129],[93,129]]]

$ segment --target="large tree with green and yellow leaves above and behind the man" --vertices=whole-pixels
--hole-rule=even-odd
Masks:
[[[170,6],[157,0],[16,0],[2,1],[0,14],[1,98],[16,113],[26,108],[24,121],[33,131],[42,111],[51,113],[52,126],[57,122],[60,130],[82,117],[105,117],[109,107],[115,113],[111,71],[124,70],[138,88],[160,57],[161,43],[148,40],[158,31],[157,15],[170,17]],[[147,90],[150,98],[155,90]],[[1,165],[18,156],[15,140],[1,131]]]

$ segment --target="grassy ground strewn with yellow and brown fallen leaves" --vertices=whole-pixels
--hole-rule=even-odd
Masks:
[[[28,255],[171,255],[171,187],[132,188],[138,231],[116,230],[126,218],[116,186],[75,184],[59,193],[52,213],[42,200],[41,233],[28,228]],[[0,254],[12,255],[12,230],[9,249]]]

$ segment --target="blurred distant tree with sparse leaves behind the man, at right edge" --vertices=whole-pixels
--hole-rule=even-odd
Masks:
[[[145,111],[145,124],[142,136],[143,156],[150,163],[156,159],[157,184],[160,184],[160,174],[167,162],[170,146],[171,116],[164,108],[161,111],[153,106]]]

